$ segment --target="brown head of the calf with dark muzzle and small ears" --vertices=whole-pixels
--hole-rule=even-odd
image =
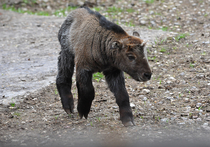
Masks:
[[[147,60],[146,43],[138,38],[138,32],[133,34],[137,37],[126,36],[111,43],[114,65],[137,81],[148,81],[152,71]]]

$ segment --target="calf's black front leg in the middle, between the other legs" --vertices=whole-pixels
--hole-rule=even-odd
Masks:
[[[77,89],[78,105],[77,110],[80,118],[87,119],[92,101],[95,97],[94,87],[92,85],[92,72],[86,70],[77,70]]]

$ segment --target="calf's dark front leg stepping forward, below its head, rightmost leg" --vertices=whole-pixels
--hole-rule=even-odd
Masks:
[[[123,72],[118,69],[111,69],[104,71],[104,75],[110,90],[116,97],[116,102],[120,109],[120,120],[125,126],[134,125],[129,96],[125,88]]]

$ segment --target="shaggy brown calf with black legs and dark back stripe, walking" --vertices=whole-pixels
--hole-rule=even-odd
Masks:
[[[152,73],[143,40],[129,36],[120,26],[87,7],[78,8],[68,15],[58,39],[61,52],[56,85],[66,113],[70,114],[74,109],[71,85],[76,65],[80,117],[87,118],[95,96],[92,74],[103,72],[116,97],[122,123],[134,125],[123,71],[137,81],[150,80]]]

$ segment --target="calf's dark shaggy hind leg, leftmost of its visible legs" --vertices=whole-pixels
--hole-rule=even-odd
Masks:
[[[71,93],[73,73],[74,55],[67,50],[62,50],[58,58],[56,86],[61,97],[63,109],[67,114],[73,113],[74,110],[74,100]]]

